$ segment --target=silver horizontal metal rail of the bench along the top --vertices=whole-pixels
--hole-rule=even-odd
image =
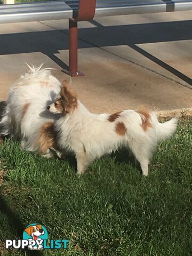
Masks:
[[[66,0],[0,5],[0,23],[72,18],[78,3]],[[192,0],[97,0],[95,17],[188,10],[192,10]]]

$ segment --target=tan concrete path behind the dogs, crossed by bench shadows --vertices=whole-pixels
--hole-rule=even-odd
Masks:
[[[79,23],[79,99],[95,113],[192,107],[191,11],[98,18]],[[28,71],[25,62],[68,65],[68,21],[0,25],[0,101]]]

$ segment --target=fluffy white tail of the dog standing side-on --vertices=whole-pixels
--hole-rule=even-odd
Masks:
[[[157,125],[157,138],[159,141],[163,141],[171,137],[171,135],[177,129],[177,118],[172,118],[170,121],[165,123],[159,123]]]

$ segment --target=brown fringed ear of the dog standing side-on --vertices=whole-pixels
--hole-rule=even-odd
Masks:
[[[68,85],[67,80],[62,82],[61,86],[61,99],[64,106],[63,114],[68,114],[74,111],[77,108],[77,94],[75,91]]]

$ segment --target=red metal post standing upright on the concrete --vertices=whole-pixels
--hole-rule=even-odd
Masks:
[[[78,29],[77,21],[69,19],[69,75],[84,76],[77,71]]]

